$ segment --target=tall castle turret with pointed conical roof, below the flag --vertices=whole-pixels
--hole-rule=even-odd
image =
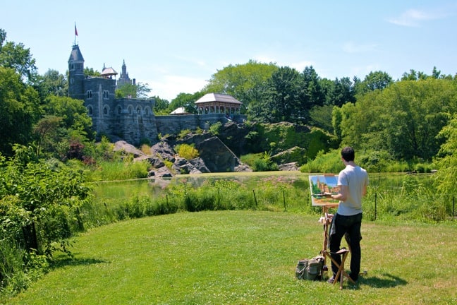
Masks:
[[[78,44],[73,44],[68,59],[68,95],[74,99],[84,100],[84,58]]]

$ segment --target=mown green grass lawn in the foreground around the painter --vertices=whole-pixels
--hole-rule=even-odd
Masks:
[[[76,239],[73,261],[57,256],[58,267],[7,304],[457,303],[457,223],[363,222],[367,275],[339,290],[295,280],[298,260],[322,246],[317,219],[222,211],[98,227]]]

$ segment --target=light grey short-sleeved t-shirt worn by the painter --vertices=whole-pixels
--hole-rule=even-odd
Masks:
[[[362,213],[362,190],[368,185],[368,174],[362,167],[346,165],[338,175],[338,185],[348,186],[346,201],[340,201],[338,214],[351,216]]]

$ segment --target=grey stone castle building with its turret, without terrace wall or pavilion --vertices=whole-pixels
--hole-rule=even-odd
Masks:
[[[157,141],[157,124],[154,116],[154,100],[116,98],[116,85],[133,83],[127,73],[125,61],[121,78],[116,84],[116,71],[104,68],[100,77],[85,77],[84,58],[79,45],[74,44],[68,59],[68,94],[84,100],[87,114],[92,118],[92,129],[97,137],[122,138],[133,145]]]

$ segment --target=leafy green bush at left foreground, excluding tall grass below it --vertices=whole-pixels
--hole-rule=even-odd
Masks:
[[[90,198],[90,188],[82,172],[65,166],[53,170],[47,163],[31,162],[31,157],[31,148],[18,147],[16,156],[1,165],[0,229],[25,250],[52,256],[56,249],[67,251],[66,244],[55,247],[54,241],[61,242],[80,229],[73,219]]]

